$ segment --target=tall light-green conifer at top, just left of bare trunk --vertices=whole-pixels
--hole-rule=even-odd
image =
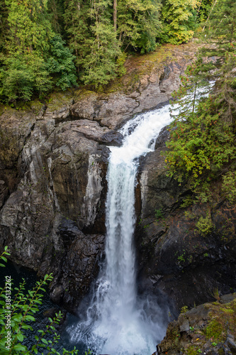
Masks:
[[[110,0],[66,1],[65,21],[79,78],[85,84],[107,84],[118,75],[120,45],[113,28]]]

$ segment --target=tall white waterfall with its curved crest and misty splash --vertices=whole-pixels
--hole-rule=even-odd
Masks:
[[[167,315],[158,300],[137,296],[133,234],[138,158],[154,150],[171,120],[169,105],[139,115],[120,130],[123,146],[110,147],[106,261],[84,319],[67,328],[73,343],[86,344],[96,355],[150,355],[165,334]]]

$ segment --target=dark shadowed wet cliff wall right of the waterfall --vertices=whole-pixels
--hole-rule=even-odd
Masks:
[[[156,150],[140,165],[136,196],[139,215],[135,231],[140,287],[152,280],[150,290],[161,288],[176,306],[192,307],[236,290],[235,207],[215,195],[215,207],[193,204],[179,208],[189,195],[188,186],[166,175],[162,151],[169,137],[163,129]],[[210,215],[214,228],[208,236],[199,231],[199,218]],[[224,235],[224,237],[222,237]]]

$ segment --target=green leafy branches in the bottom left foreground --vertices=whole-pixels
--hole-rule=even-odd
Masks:
[[[6,262],[4,255],[9,255],[7,247],[1,254],[1,260]],[[4,266],[0,264],[0,266]],[[52,281],[52,274],[45,275],[43,280],[37,281],[33,290],[26,290],[26,281],[19,285],[18,288],[12,288],[12,280],[7,278],[4,288],[0,288],[0,350],[1,354],[19,354],[19,355],[32,355],[32,354],[58,354],[54,346],[60,339],[57,334],[55,325],[60,323],[62,313],[58,312],[56,317],[49,318],[49,324],[44,330],[38,330],[38,335],[35,335],[35,344],[27,349],[23,345],[24,339],[27,337],[29,331],[33,331],[30,325],[35,322],[35,315],[38,312],[38,306],[43,302],[43,293],[45,286]],[[11,286],[10,286],[11,285]],[[11,289],[11,291],[9,291]],[[6,302],[11,300],[11,302]],[[7,342],[6,335],[9,334],[11,341]],[[50,334],[50,340],[48,339]],[[47,339],[45,339],[47,336]],[[43,351],[43,353],[41,352]],[[72,351],[63,349],[63,354],[78,354],[78,350],[74,347]],[[90,352],[88,353],[90,354]]]

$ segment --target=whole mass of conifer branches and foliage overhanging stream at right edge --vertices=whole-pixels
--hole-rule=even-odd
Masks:
[[[167,143],[169,151],[166,153],[168,175],[174,176],[180,183],[187,179],[199,202],[210,200],[211,181],[219,175],[224,176],[227,166],[236,157],[236,86],[232,74],[236,61],[232,50],[227,55],[224,53],[224,57],[225,62],[220,67],[212,59],[206,62],[199,59],[188,68],[182,87],[175,93],[180,109],[179,114],[173,115],[169,128],[171,140]],[[197,95],[196,89],[203,87],[212,75],[220,77],[214,91],[206,98],[209,87],[205,86],[206,90],[201,89],[201,95]]]

